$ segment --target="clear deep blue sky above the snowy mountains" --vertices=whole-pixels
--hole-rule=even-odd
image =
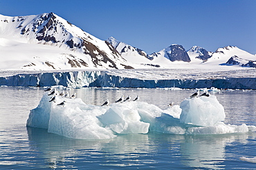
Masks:
[[[1,0],[0,14],[54,12],[85,32],[158,52],[172,44],[215,51],[235,45],[256,54],[255,0]]]

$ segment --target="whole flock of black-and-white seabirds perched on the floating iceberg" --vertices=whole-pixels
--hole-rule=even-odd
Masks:
[[[68,92],[65,92],[64,90],[62,92],[58,92],[55,88],[53,87],[48,87],[48,89],[45,89],[44,91],[49,92],[48,96],[52,96],[51,100],[49,100],[49,102],[55,102],[56,96],[62,96],[64,98],[75,98],[76,97],[76,93],[74,93],[72,96],[69,96]],[[192,94],[190,96],[190,98],[194,98],[194,97],[199,97],[199,96],[206,96],[209,97],[210,93],[208,93],[208,90],[206,90],[203,94],[199,95],[199,91],[197,90],[197,92],[195,92],[194,94]],[[125,98],[125,96],[122,95],[121,98],[119,98],[118,100],[115,101],[115,103],[122,103],[122,102],[127,102],[131,100],[131,96],[127,96],[127,98]],[[136,98],[134,98],[133,101],[138,101],[140,100],[140,96],[137,96]],[[63,106],[65,105],[66,101],[63,100],[62,103],[57,104],[58,106]],[[105,101],[105,103],[103,103],[101,106],[107,106],[109,105],[109,99],[107,99]],[[170,103],[168,106],[172,107],[174,105],[174,102]]]

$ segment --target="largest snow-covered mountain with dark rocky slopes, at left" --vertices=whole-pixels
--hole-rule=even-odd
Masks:
[[[107,41],[54,13],[0,15],[0,69],[133,68]]]

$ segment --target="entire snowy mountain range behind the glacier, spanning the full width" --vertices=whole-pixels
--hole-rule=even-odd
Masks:
[[[218,66],[236,63],[228,63],[232,56],[243,61],[235,66],[255,67],[256,64],[255,55],[235,46],[208,52],[199,46],[186,51],[182,45],[173,44],[147,54],[113,37],[102,41],[53,12],[23,17],[0,14],[0,54],[1,70]]]

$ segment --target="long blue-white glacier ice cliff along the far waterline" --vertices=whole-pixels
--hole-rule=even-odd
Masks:
[[[251,70],[248,75],[254,75]],[[156,74],[155,74],[156,73]],[[141,70],[118,71],[72,71],[72,72],[43,72],[0,76],[0,85],[46,87],[63,85],[65,87],[179,87],[179,88],[210,88],[219,89],[256,89],[256,77],[246,76],[239,72],[236,76],[214,73],[207,76],[186,74],[179,76],[161,77],[159,72],[150,74]],[[141,74],[138,76],[138,74]],[[148,74],[148,75],[147,75]],[[165,72],[164,74],[168,74]],[[152,76],[153,75],[153,76]],[[200,74],[199,74],[200,75]],[[205,74],[206,75],[206,74]],[[209,76],[210,75],[210,76]],[[235,74],[234,74],[235,75]]]

